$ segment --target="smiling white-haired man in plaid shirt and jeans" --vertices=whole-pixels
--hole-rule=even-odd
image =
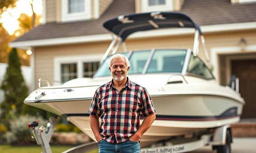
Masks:
[[[148,91],[129,80],[129,69],[126,56],[113,55],[109,62],[113,79],[100,86],[92,99],[89,118],[99,153],[139,153],[140,137],[156,118]],[[145,119],[140,125],[141,113]]]

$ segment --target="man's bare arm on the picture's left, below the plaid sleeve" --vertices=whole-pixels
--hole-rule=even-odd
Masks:
[[[92,128],[92,132],[97,140],[100,141],[102,139],[102,136],[100,135],[100,123],[99,123],[99,117],[96,115],[90,115],[90,126]]]

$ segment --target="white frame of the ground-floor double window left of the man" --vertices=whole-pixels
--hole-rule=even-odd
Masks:
[[[103,54],[84,56],[58,56],[54,58],[53,78],[54,82],[61,82],[61,64],[76,63],[77,78],[84,77],[84,62],[100,62]]]

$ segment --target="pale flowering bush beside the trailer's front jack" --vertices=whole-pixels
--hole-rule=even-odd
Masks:
[[[9,144],[15,143],[31,143],[34,140],[31,137],[30,130],[28,129],[28,123],[40,120],[39,126],[43,125],[44,127],[47,124],[47,120],[44,120],[41,116],[20,116],[19,118],[12,120],[10,122],[10,132],[6,132],[4,135],[6,142]]]

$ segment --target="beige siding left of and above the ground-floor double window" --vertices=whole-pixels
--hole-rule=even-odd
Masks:
[[[37,81],[39,78],[47,78],[53,81],[54,58],[55,57],[71,57],[86,56],[90,54],[104,53],[108,47],[108,42],[62,45],[51,47],[35,48],[35,84],[38,88]],[[42,86],[46,85],[42,83]]]

